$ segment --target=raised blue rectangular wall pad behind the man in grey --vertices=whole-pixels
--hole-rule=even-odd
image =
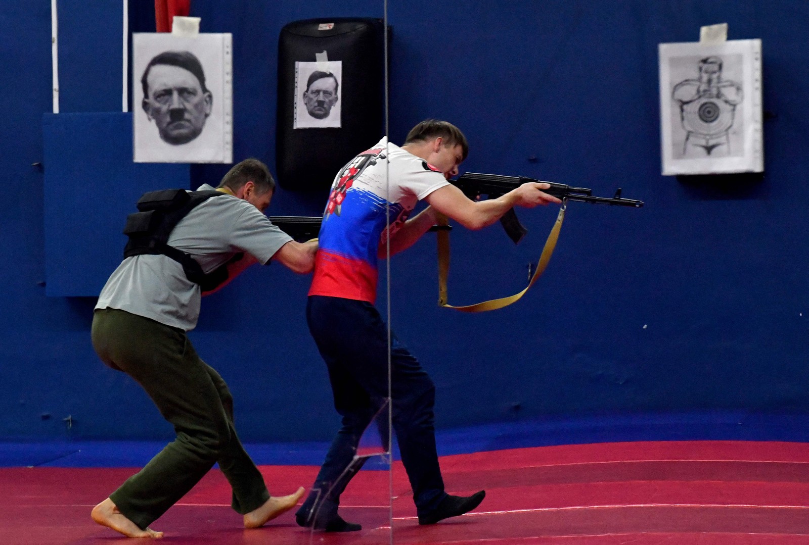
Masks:
[[[45,294],[97,296],[144,192],[188,188],[187,164],[132,162],[132,114],[44,114]]]

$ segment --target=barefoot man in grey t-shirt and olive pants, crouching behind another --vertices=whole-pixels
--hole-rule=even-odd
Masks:
[[[177,223],[167,244],[193,257],[203,272],[227,266],[231,280],[249,264],[276,260],[294,272],[314,264],[316,241],[297,243],[264,215],[275,181],[264,163],[231,168],[218,191]],[[213,190],[205,185],[201,190]],[[244,257],[235,260],[235,256]],[[256,528],[291,509],[303,487],[270,497],[239,442],[227,384],[194,351],[186,332],[197,325],[200,286],[162,254],[125,258],[95,306],[92,342],[112,369],[134,378],[176,431],[175,441],[96,505],[92,518],[128,537],[159,538],[151,522],[180,500],[214,463],[233,489],[232,507]]]

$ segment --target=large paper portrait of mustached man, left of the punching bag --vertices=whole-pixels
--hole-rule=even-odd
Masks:
[[[133,35],[135,163],[231,163],[231,35]]]

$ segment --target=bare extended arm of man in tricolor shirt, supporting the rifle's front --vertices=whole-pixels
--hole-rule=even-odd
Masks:
[[[542,192],[548,184],[527,182],[505,195],[486,201],[471,201],[459,188],[446,185],[425,197],[432,208],[454,219],[467,229],[478,230],[497,222],[515,206],[533,208],[537,205],[561,203],[557,197]]]

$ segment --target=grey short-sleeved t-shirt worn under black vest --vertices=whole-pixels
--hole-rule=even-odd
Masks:
[[[199,189],[214,188],[205,184]],[[188,213],[172,231],[168,245],[190,254],[203,271],[211,272],[240,251],[266,264],[290,240],[248,201],[224,195]],[[132,256],[112,272],[95,308],[116,308],[190,331],[197,326],[200,297],[200,286],[189,281],[172,258]]]

